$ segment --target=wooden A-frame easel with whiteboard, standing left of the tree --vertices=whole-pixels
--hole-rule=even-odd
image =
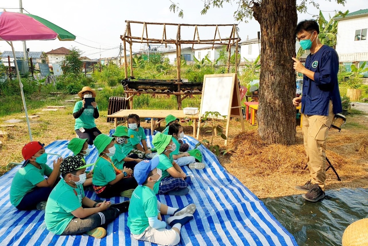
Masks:
[[[197,139],[199,138],[201,118],[206,112],[219,112],[227,117],[226,140],[229,136],[230,118],[239,118],[241,129],[245,131],[243,112],[240,105],[239,84],[236,74],[208,74],[204,76],[201,108],[199,109]],[[219,119],[224,119],[219,117]]]

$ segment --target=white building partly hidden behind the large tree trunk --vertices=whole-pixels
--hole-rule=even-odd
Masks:
[[[241,46],[240,62],[245,62],[245,59],[252,62],[259,56],[259,52],[261,50],[261,40],[258,40],[258,38],[242,41],[239,43],[239,45]],[[300,43],[296,42],[295,53],[298,53],[299,48]],[[307,52],[304,52],[301,58],[305,59],[309,55],[309,53],[309,50],[307,50]]]

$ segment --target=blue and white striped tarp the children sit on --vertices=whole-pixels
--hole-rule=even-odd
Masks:
[[[193,148],[197,140],[192,137],[184,139]],[[152,136],[147,137],[151,146]],[[71,155],[67,149],[68,141],[58,140],[46,147],[46,152],[57,153],[63,157]],[[97,151],[93,146],[87,163],[97,159]],[[273,217],[265,205],[250,190],[230,175],[218,162],[215,155],[200,145],[203,170],[184,171],[192,176],[190,192],[186,196],[164,196],[159,200],[172,207],[182,207],[190,203],[197,206],[194,219],[181,229],[179,245],[254,245],[254,246],[297,246],[294,237]],[[49,156],[48,164],[56,156]],[[86,234],[73,236],[57,236],[46,229],[44,211],[18,211],[9,201],[10,184],[18,167],[13,168],[0,177],[0,245],[55,245],[55,246],[106,246],[133,245],[148,246],[151,243],[135,240],[130,235],[127,224],[127,213],[120,215],[107,226],[107,236],[95,239]],[[96,194],[86,191],[86,196],[98,199]],[[112,203],[127,200],[114,197]],[[164,218],[167,218],[164,216]]]

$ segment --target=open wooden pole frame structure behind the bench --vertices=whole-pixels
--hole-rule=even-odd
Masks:
[[[128,21],[125,20],[127,23],[125,27],[125,31],[123,35],[120,35],[121,40],[123,41],[124,46],[124,72],[125,72],[125,79],[128,79],[128,65],[127,65],[127,43],[129,43],[129,51],[130,51],[130,77],[133,77],[133,56],[132,56],[132,44],[133,43],[146,43],[147,47],[149,44],[174,44],[176,45],[176,64],[177,64],[177,84],[178,84],[178,91],[180,91],[180,84],[181,84],[181,77],[180,77],[180,57],[181,57],[181,45],[182,44],[192,44],[192,49],[194,48],[195,44],[199,45],[212,45],[212,49],[215,45],[226,45],[226,51],[229,52],[228,59],[227,59],[227,73],[230,72],[230,57],[231,57],[231,46],[235,45],[235,60],[238,60],[238,43],[240,41],[240,37],[237,30],[237,24],[174,24],[174,23],[158,23],[158,22],[142,22],[142,21]],[[140,37],[132,36],[131,32],[131,24],[141,24],[143,26],[142,35]],[[148,37],[148,26],[149,25],[160,25],[162,26],[162,38],[149,38]],[[177,33],[176,39],[167,38],[166,35],[166,26],[176,26]],[[192,40],[183,40],[181,39],[180,29],[181,27],[194,27],[194,35]],[[198,27],[215,27],[215,35],[213,39],[200,39]],[[229,38],[221,38],[219,27],[231,27],[231,32]],[[144,37],[145,36],[145,37]],[[235,63],[235,73],[238,71],[238,64]],[[139,94],[142,92],[129,92],[127,98],[130,99],[130,105],[132,108],[132,97],[135,94]],[[144,93],[144,92],[143,92]],[[146,92],[147,93],[147,92]],[[154,93],[154,92],[152,92]],[[161,94],[155,93],[155,94]],[[166,94],[166,93],[163,93]],[[182,92],[174,93],[177,96],[178,102],[178,109],[181,109],[181,101],[186,98],[188,95]],[[173,94],[173,95],[174,95]],[[184,95],[181,98],[181,95]]]

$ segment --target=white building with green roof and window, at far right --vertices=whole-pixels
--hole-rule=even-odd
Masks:
[[[358,10],[345,17],[336,17],[336,52],[340,62],[368,61],[368,9]]]

